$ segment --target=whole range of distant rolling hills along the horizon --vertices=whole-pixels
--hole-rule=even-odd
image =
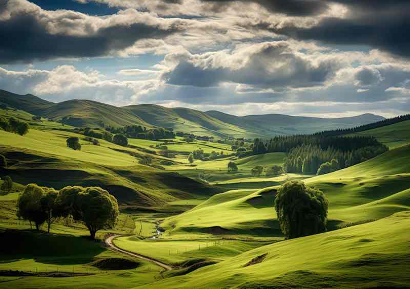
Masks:
[[[141,125],[147,128],[173,128],[202,136],[270,138],[275,135],[311,134],[347,128],[383,120],[363,114],[346,118],[295,117],[280,114],[238,117],[211,110],[168,108],[155,104],[117,107],[91,100],[68,100],[53,103],[34,95],[17,95],[0,90],[0,103],[78,127]]]

